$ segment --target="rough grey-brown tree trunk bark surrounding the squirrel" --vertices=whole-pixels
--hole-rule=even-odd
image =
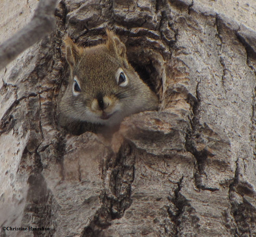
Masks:
[[[36,7],[8,5],[1,40]],[[0,236],[256,236],[255,11],[253,0],[61,0],[56,31],[0,71]],[[107,26],[160,109],[74,135],[56,121],[62,39],[95,45]]]

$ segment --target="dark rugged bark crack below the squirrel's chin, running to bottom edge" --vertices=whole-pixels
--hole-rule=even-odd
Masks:
[[[135,156],[130,145],[122,145],[117,156],[110,158],[103,176],[110,170],[109,189],[111,193],[104,191],[101,194],[102,207],[96,212],[93,220],[83,231],[83,237],[99,236],[103,229],[111,225],[111,221],[119,219],[132,204],[132,182],[135,173]]]

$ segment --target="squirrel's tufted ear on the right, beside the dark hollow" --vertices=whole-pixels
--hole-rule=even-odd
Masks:
[[[108,29],[106,30],[108,39],[106,46],[109,51],[114,53],[115,55],[126,59],[126,48],[125,45],[120,41],[120,39],[113,34],[112,31],[109,31]]]

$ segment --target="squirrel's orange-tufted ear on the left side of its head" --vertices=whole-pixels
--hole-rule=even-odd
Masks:
[[[81,47],[76,46],[76,44],[74,44],[69,37],[65,37],[63,41],[65,43],[65,53],[67,62],[69,63],[70,67],[73,68],[78,63],[83,49]]]

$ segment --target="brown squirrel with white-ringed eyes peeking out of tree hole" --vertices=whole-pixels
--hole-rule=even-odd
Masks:
[[[62,126],[86,121],[111,127],[126,116],[158,108],[158,97],[129,64],[125,45],[112,31],[106,33],[106,43],[86,48],[69,37],[63,40],[70,79],[58,105]]]

